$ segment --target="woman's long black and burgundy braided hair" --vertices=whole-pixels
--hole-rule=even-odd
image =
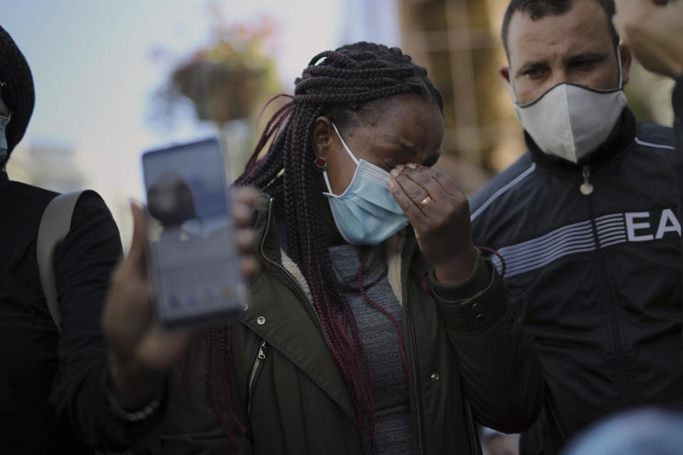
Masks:
[[[371,372],[354,315],[337,284],[329,245],[319,222],[317,198],[322,195],[314,188],[320,176],[314,171],[315,156],[309,138],[315,119],[321,115],[333,119],[340,129],[352,128],[365,114],[378,112],[383,101],[404,93],[418,94],[443,110],[443,97],[425,68],[415,65],[398,48],[361,42],[319,53],[295,81],[292,100],[266,125],[245,171],[236,181],[238,186],[263,188],[282,210],[279,213],[287,225],[287,254],[309,285],[322,331],[344,375],[366,442],[374,439]],[[268,153],[259,159],[271,139]]]

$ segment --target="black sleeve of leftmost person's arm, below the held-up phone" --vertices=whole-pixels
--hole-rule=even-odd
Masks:
[[[110,414],[105,398],[109,369],[100,318],[110,274],[121,256],[110,211],[97,193],[85,192],[55,255],[62,333],[51,402],[83,441],[105,450],[137,445],[159,421],[123,424]]]

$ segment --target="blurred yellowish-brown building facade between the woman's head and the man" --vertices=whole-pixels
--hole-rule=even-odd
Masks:
[[[444,96],[443,149],[467,193],[524,151],[507,87],[499,26],[507,0],[399,0],[403,49]],[[477,173],[477,170],[484,172]]]

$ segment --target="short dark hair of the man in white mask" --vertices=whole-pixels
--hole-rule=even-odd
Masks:
[[[612,42],[616,48],[619,45],[619,36],[617,31],[614,29],[612,24],[612,16],[614,16],[614,0],[595,0],[600,6],[605,10],[607,14],[608,28],[610,31],[610,36],[612,37]],[[505,16],[503,17],[503,28],[501,31],[501,37],[503,38],[503,45],[505,47],[505,53],[507,58],[510,58],[510,52],[507,47],[507,34],[508,28],[510,26],[510,19],[515,11],[521,11],[522,14],[529,14],[532,21],[538,21],[544,16],[559,16],[565,14],[571,9],[574,4],[574,0],[512,0],[507,6],[507,11],[505,11]]]

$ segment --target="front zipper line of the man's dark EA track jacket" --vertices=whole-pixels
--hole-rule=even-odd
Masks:
[[[588,171],[588,166],[585,166],[583,171],[584,178],[586,178],[586,173],[590,176]],[[583,193],[583,191],[582,191]],[[635,400],[632,397],[632,391],[627,380],[626,374],[626,364],[623,357],[623,350],[621,346],[621,335],[619,330],[619,323],[617,321],[615,303],[612,298],[612,292],[607,279],[607,270],[605,267],[605,259],[603,257],[603,250],[600,247],[600,237],[598,236],[598,226],[595,223],[595,209],[593,208],[593,186],[591,185],[591,192],[586,195],[586,205],[588,205],[588,217],[591,219],[591,228],[593,228],[593,240],[595,240],[595,253],[598,255],[598,269],[600,269],[600,284],[605,292],[605,299],[607,299],[607,311],[608,311],[608,322],[610,325],[610,331],[612,335],[612,343],[614,343],[615,355],[617,355],[617,364],[619,365],[619,375],[623,383],[623,394],[626,397],[626,404],[631,406],[635,404]]]

